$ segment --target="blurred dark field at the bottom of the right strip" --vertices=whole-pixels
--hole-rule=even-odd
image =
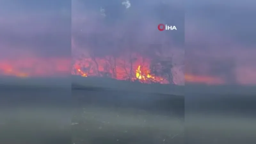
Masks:
[[[249,94],[186,95],[186,143],[255,144],[255,96]]]

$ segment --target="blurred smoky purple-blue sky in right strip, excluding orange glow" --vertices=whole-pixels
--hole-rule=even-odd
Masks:
[[[255,84],[253,1],[196,1],[186,5],[186,72],[230,84]]]

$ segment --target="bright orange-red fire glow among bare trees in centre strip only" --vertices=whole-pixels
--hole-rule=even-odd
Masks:
[[[150,71],[150,60],[138,56],[125,60],[106,56],[104,58],[82,58],[74,60],[72,75],[108,77],[117,80],[139,81],[141,83],[168,84],[168,79],[155,76]]]

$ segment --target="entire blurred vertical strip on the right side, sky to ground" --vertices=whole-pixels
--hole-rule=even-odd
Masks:
[[[255,143],[255,5],[186,7],[186,143]]]

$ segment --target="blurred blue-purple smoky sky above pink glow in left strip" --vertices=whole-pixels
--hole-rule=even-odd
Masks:
[[[70,57],[69,0],[2,0],[0,58]]]

